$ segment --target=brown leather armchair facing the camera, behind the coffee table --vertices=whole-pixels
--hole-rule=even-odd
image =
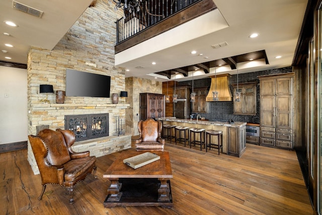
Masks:
[[[136,151],[164,151],[165,139],[161,138],[160,120],[146,119],[138,122],[140,136],[135,140]]]

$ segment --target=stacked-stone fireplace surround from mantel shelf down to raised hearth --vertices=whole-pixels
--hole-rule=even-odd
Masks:
[[[53,97],[54,95],[52,95]],[[50,96],[48,96],[50,99]],[[109,113],[109,136],[76,141],[72,146],[75,152],[90,151],[91,156],[101,157],[113,152],[131,148],[131,133],[126,131],[125,135],[113,135],[115,133],[116,115],[125,116],[125,109],[129,104],[41,104],[37,101],[28,117],[35,119],[33,126],[29,126],[29,133],[36,135],[37,125],[49,125],[49,129],[64,129],[65,115],[83,115]],[[33,155],[30,143],[28,142],[28,161],[34,174],[39,174],[38,166]]]

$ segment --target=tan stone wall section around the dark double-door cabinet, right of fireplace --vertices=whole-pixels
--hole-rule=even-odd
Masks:
[[[137,123],[140,120],[140,93],[162,94],[162,82],[130,77],[125,79],[125,83],[128,92],[126,103],[130,104],[130,107],[125,111],[126,129],[130,130],[132,135],[138,135]]]

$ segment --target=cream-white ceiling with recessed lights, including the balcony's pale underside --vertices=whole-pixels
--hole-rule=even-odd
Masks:
[[[126,77],[154,79],[154,76],[148,74],[265,50],[269,64],[265,64],[263,60],[239,63],[238,72],[248,73],[291,65],[307,0],[213,1],[218,10],[116,54],[115,64],[130,70],[126,71]],[[0,60],[27,63],[30,46],[52,49],[92,0],[17,2],[43,11],[44,14],[40,19],[12,9],[11,0],[0,1],[0,49],[8,50],[6,54],[0,52]],[[7,26],[4,23],[7,20],[16,22],[19,27]],[[4,32],[11,36],[5,36]],[[255,39],[249,38],[254,32],[259,36]],[[224,41],[228,43],[225,47],[211,47]],[[6,47],[5,43],[11,43],[14,47]],[[192,50],[196,50],[197,54],[192,55]],[[282,57],[276,59],[275,56],[278,55]],[[5,59],[5,56],[12,59]],[[152,61],[156,64],[152,65]],[[135,68],[137,66],[143,68]],[[216,71],[236,73],[236,69],[231,70],[229,66],[217,67]],[[196,71],[194,78],[205,78],[213,73],[213,68],[209,74]],[[186,78],[178,75],[176,79],[191,80],[192,74]],[[167,81],[167,78],[160,76],[156,80]]]

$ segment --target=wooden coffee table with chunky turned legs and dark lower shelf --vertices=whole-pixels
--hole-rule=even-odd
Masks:
[[[123,163],[124,159],[143,153],[124,152],[103,174],[104,178],[111,181],[104,201],[105,207],[173,206],[170,184],[173,175],[169,152],[151,152],[160,156],[160,159],[137,169]]]

